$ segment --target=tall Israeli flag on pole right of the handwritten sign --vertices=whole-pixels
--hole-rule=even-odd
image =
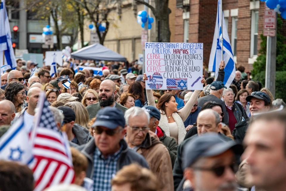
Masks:
[[[219,64],[222,60],[221,58],[221,41],[222,38],[222,30],[221,30],[221,21],[220,21],[220,12],[222,12],[222,21],[223,21],[223,60],[226,63],[226,67],[224,68],[224,80],[223,84],[226,87],[229,87],[235,77],[235,62],[233,58],[233,53],[231,50],[229,35],[226,30],[226,23],[224,20],[223,11],[220,10],[221,0],[217,2],[217,20],[215,23],[215,34],[214,39],[212,41],[212,50],[209,56],[209,71],[215,72],[215,79],[218,76]]]

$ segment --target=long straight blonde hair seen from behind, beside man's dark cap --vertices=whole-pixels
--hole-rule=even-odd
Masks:
[[[81,104],[78,101],[72,101],[69,103],[66,103],[64,106],[68,106],[71,107],[72,110],[74,110],[75,113],[75,123],[85,127],[86,129],[89,129],[88,126],[88,112],[86,110],[86,108],[83,106],[83,104]]]

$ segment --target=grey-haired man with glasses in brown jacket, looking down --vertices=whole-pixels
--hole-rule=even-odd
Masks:
[[[128,146],[144,156],[150,170],[158,177],[162,190],[174,190],[172,162],[168,149],[149,132],[149,113],[140,107],[131,107],[125,114]]]

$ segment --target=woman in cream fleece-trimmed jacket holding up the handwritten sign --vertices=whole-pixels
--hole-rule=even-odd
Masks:
[[[147,79],[147,75],[144,73],[143,80],[145,81]],[[206,80],[203,77],[201,83],[204,84],[205,82]],[[192,107],[198,101],[200,91],[201,90],[195,90],[181,110],[177,109],[178,104],[176,103],[175,96],[170,93],[164,94],[158,101],[158,109],[161,113],[158,126],[165,131],[167,136],[175,138],[178,144],[184,141],[186,135],[184,121],[188,118]],[[156,107],[152,90],[146,90],[146,94],[148,105]]]

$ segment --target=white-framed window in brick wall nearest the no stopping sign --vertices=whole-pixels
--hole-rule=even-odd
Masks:
[[[258,17],[259,17],[258,10],[251,11],[250,58],[257,57]]]

